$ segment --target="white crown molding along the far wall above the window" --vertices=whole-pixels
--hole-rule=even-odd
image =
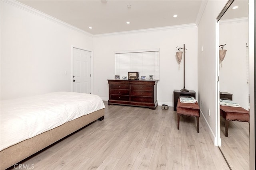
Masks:
[[[122,32],[114,32],[114,33],[105,33],[105,34],[95,34],[93,37],[105,37],[110,35],[125,35],[131,33],[146,33],[146,32],[156,32],[156,31],[169,31],[173,29],[185,29],[185,28],[193,28],[197,27],[195,23],[183,24],[183,25],[174,25],[168,27],[156,27],[156,28],[148,28],[148,29],[138,29],[133,31],[122,31]]]

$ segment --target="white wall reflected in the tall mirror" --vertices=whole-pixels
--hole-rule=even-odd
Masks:
[[[220,64],[220,91],[233,94],[233,101],[248,110],[249,84],[246,82],[248,18],[220,20],[220,45],[226,44],[226,57]]]

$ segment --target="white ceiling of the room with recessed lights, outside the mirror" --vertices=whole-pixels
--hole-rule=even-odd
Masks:
[[[19,2],[96,35],[196,23],[202,14],[201,4],[203,6],[206,0],[19,0]],[[131,7],[129,8],[128,5]],[[174,18],[174,14],[178,17]],[[127,21],[130,24],[127,24]]]

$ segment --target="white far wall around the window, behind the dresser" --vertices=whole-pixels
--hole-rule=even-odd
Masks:
[[[173,90],[183,88],[183,61],[176,59],[178,47],[185,52],[185,85],[197,92],[197,27],[134,31],[94,37],[94,94],[108,99],[108,81],[115,75],[115,51],[160,49],[160,81],[157,87],[158,104],[173,106]]]

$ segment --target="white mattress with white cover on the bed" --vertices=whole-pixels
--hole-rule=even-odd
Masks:
[[[0,150],[103,108],[99,96],[74,92],[2,100]]]

